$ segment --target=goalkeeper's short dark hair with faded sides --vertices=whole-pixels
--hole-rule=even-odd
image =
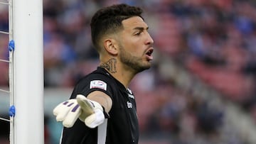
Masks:
[[[98,10],[92,16],[91,36],[92,43],[97,51],[100,51],[99,40],[103,35],[111,34],[123,28],[122,21],[132,16],[142,18],[142,9],[127,4],[116,4]]]

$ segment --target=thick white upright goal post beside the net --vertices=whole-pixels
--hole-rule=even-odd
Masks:
[[[9,0],[15,43],[13,101],[15,144],[43,144],[43,0]],[[10,38],[11,38],[10,36]]]

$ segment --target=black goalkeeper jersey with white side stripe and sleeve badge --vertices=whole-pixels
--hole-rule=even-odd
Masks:
[[[80,79],[70,99],[101,91],[112,99],[110,118],[97,128],[88,128],[79,118],[72,128],[63,128],[61,144],[131,144],[138,143],[139,126],[132,91],[102,67]]]

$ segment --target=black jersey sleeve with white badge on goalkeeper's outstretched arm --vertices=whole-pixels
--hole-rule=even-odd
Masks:
[[[111,99],[113,99],[113,82],[110,77],[104,74],[89,74],[87,77],[80,79],[76,84],[70,99],[75,99],[77,94],[87,96],[91,92],[100,91],[104,92]]]

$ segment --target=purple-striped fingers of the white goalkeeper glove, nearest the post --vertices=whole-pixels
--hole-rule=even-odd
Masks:
[[[63,121],[63,126],[70,128],[74,125],[78,116],[81,114],[81,108],[76,99],[69,99],[53,109],[56,121]]]

